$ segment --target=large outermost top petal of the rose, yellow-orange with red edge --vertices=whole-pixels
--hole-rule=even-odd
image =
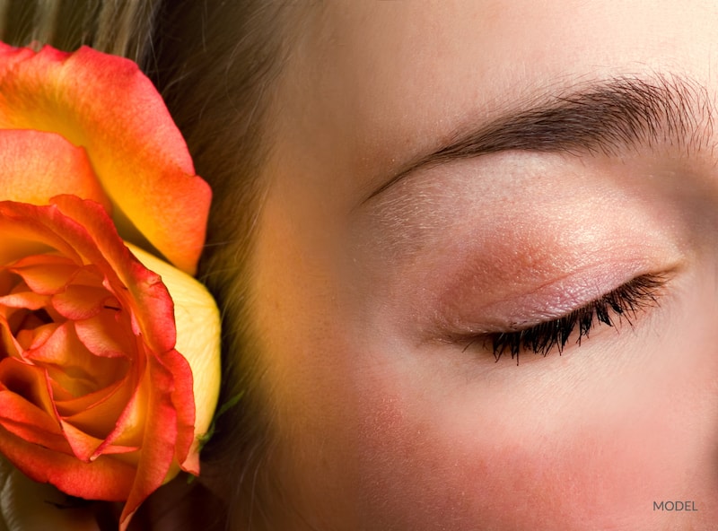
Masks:
[[[195,272],[211,191],[134,63],[91,48],[34,53],[0,45],[0,129],[53,132],[82,146],[120,235],[139,245],[146,239],[175,266]],[[69,187],[61,192],[83,196]]]

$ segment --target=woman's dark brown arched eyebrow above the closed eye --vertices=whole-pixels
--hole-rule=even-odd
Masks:
[[[636,145],[670,144],[688,152],[713,136],[713,102],[700,83],[678,75],[621,76],[523,104],[485,125],[462,130],[398,170],[363,202],[412,172],[510,150],[615,155]]]

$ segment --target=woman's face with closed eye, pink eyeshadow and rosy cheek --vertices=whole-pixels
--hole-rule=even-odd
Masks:
[[[314,9],[258,220],[284,528],[714,526],[718,3]]]

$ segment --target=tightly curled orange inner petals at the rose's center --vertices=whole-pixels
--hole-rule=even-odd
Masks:
[[[103,281],[95,266],[54,254],[25,257],[0,271],[0,357],[39,370],[53,401],[97,393],[127,374],[127,351],[113,337],[124,327],[123,309]],[[107,341],[98,341],[103,336]],[[14,384],[38,405],[26,383]]]

